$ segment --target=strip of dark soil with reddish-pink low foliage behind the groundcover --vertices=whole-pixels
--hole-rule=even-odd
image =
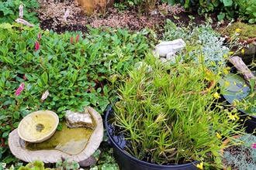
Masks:
[[[140,31],[144,28],[154,29],[157,33],[161,33],[161,28],[164,26],[164,22],[167,19],[171,19],[172,22],[177,23],[179,26],[188,26],[194,23],[195,26],[199,26],[206,23],[207,19],[211,19],[213,29],[216,28],[218,19],[217,13],[208,13],[207,19],[205,15],[198,15],[197,12],[181,12],[176,15],[168,14],[162,15],[157,12],[156,14],[138,13],[136,9],[130,8],[126,11],[118,11],[118,8],[107,8],[104,14],[85,15],[79,12],[69,17],[69,22],[65,25],[59,24],[53,26],[53,19],[40,19],[41,29],[54,29],[55,32],[61,33],[66,31],[74,32],[89,32],[87,27],[99,28],[100,26],[111,27],[114,29],[126,28],[133,31]],[[40,15],[40,14],[39,14]],[[61,17],[59,17],[61,18]],[[223,26],[227,25],[223,23]]]

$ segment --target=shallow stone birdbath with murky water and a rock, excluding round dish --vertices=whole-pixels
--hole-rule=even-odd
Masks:
[[[24,162],[40,160],[55,163],[68,158],[68,162],[92,162],[92,154],[99,148],[103,138],[101,115],[92,107],[85,107],[84,113],[66,111],[63,131],[55,131],[47,141],[33,143],[22,140],[16,128],[9,134],[9,148],[12,154]],[[95,163],[95,162],[94,162]]]

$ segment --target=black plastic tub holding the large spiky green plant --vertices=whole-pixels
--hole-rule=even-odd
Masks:
[[[122,145],[125,141],[122,139],[116,139],[115,135],[112,135],[112,129],[110,128],[109,124],[109,115],[112,113],[112,107],[110,106],[109,109],[106,112],[105,117],[105,126],[106,126],[106,132],[109,136],[109,143],[112,146],[114,150],[114,157],[116,159],[117,164],[119,165],[119,168],[121,170],[197,170],[198,168],[196,165],[198,165],[200,162],[192,162],[192,163],[186,163],[182,165],[157,165],[152,164],[149,162],[141,161],[137,158],[134,158],[133,156],[127,154],[122,149]]]

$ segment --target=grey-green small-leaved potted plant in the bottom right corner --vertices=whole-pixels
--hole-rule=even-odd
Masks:
[[[223,141],[222,162],[227,169],[256,168],[256,136],[251,134],[235,135]]]

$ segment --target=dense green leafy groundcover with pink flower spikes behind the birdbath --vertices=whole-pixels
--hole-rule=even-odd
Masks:
[[[145,30],[88,29],[86,35],[58,35],[36,26],[0,25],[0,162],[16,162],[9,133],[35,110],[53,110],[60,119],[64,110],[85,106],[102,114],[116,98],[113,85],[150,48]]]

